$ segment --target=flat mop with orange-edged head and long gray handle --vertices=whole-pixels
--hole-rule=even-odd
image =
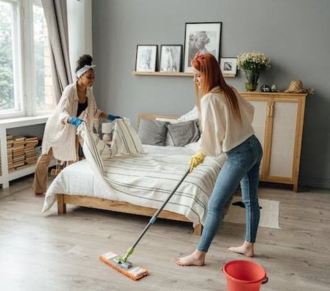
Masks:
[[[121,272],[125,276],[127,276],[135,281],[138,279],[141,279],[142,277],[144,277],[148,274],[148,270],[146,270],[145,268],[142,268],[140,266],[134,266],[133,263],[131,263],[130,261],[127,261],[127,259],[129,258],[130,255],[133,254],[135,246],[139,243],[140,239],[142,239],[142,237],[146,233],[146,230],[148,230],[148,228],[151,226],[151,224],[155,223],[157,216],[163,210],[164,206],[168,203],[168,201],[173,196],[175,191],[177,191],[177,188],[179,188],[181,183],[184,182],[184,179],[186,178],[188,173],[189,173],[189,169],[188,169],[188,171],[186,171],[184,176],[181,177],[181,180],[179,180],[179,182],[177,183],[177,185],[175,186],[173,191],[170,193],[170,195],[168,195],[167,199],[164,201],[162,206],[160,206],[160,208],[156,211],[156,213],[153,215],[153,217],[151,217],[151,219],[149,220],[149,222],[146,225],[146,227],[144,228],[144,230],[142,230],[142,233],[140,233],[140,236],[137,237],[134,244],[126,251],[126,254],[121,257],[120,255],[116,254],[115,252],[106,252],[105,254],[100,255],[100,259],[102,261],[104,261],[104,263],[107,263],[107,265],[110,266],[111,268],[113,268],[114,270]]]

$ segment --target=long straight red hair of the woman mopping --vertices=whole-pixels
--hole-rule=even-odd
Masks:
[[[197,71],[201,72],[201,77],[203,78],[201,94],[205,95],[214,87],[219,86],[225,96],[225,100],[232,110],[234,118],[241,121],[241,112],[239,111],[239,102],[236,94],[232,87],[225,83],[217,59],[210,53],[197,53],[195,58],[192,59],[191,65],[197,69]],[[198,88],[196,88],[196,92],[198,101]],[[197,107],[199,108],[199,102],[197,102]]]

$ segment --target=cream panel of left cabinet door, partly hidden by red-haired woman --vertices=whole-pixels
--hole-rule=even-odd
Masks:
[[[263,146],[265,147],[265,127],[266,127],[266,114],[267,114],[267,100],[250,100],[250,103],[254,106],[254,118],[252,127],[254,129],[256,137]],[[261,160],[260,175],[263,177],[263,160]]]

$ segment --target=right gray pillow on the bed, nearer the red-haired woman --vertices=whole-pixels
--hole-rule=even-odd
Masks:
[[[200,137],[197,120],[168,123],[167,128],[175,147],[184,147],[190,142],[197,142]]]

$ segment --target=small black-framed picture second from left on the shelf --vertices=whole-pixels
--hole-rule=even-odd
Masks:
[[[160,72],[180,72],[182,45],[161,45],[160,47]]]

